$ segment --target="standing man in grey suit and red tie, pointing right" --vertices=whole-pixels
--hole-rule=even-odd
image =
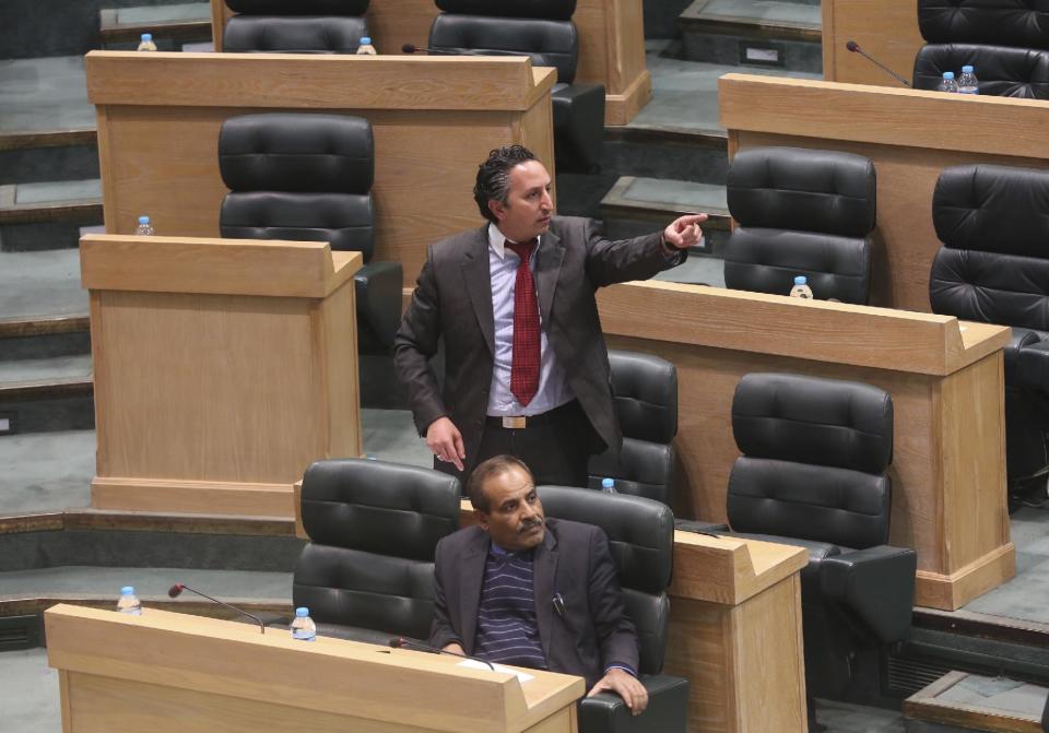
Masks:
[[[585,486],[591,453],[618,450],[594,292],[684,261],[706,214],[609,241],[553,215],[550,174],[521,145],[492,151],[473,196],[488,223],[429,247],[393,340],[435,468],[465,481],[492,456],[523,459],[540,484]],[[445,342],[441,392],[429,367]]]

